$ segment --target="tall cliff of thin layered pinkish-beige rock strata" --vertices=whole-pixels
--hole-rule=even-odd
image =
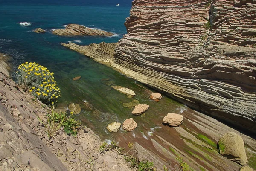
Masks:
[[[125,26],[113,67],[256,130],[256,2],[134,0]]]

